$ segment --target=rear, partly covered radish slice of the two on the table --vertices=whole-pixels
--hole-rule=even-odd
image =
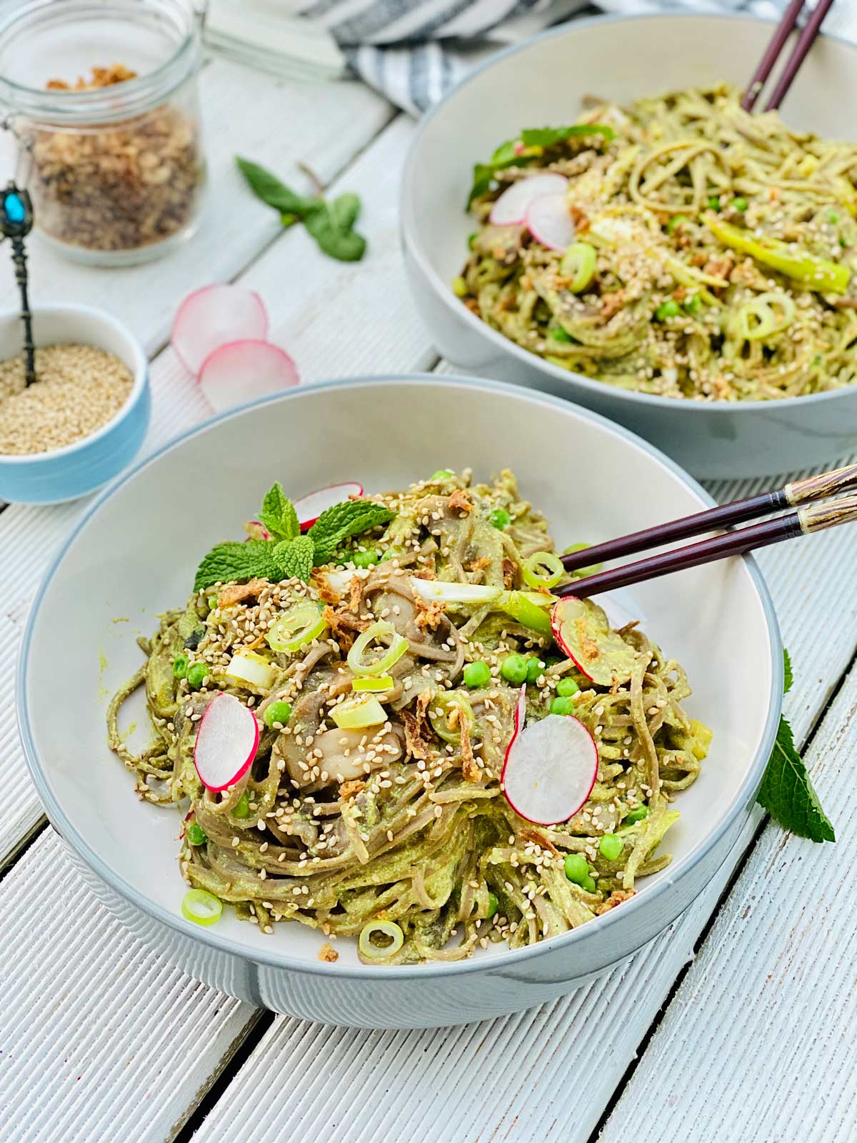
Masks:
[[[194,290],[182,302],[170,341],[182,365],[195,376],[218,345],[266,337],[267,313],[258,294],[217,282]]]

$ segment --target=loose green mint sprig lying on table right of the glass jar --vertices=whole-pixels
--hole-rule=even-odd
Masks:
[[[235,162],[254,194],[279,211],[283,226],[302,222],[325,254],[339,262],[362,258],[366,239],[354,230],[360,214],[357,194],[341,194],[333,202],[320,195],[305,198],[258,163],[241,158],[235,158]]]

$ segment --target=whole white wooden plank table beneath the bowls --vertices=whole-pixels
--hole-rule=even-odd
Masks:
[[[262,294],[271,339],[307,383],[443,368],[399,254],[413,122],[357,83],[299,86],[219,59],[202,88],[211,197],[189,246],[109,273],[32,243],[37,301],[105,305],[149,349],[146,448],[206,415],[167,338],[176,303],[209,281]],[[297,186],[303,160],[362,194],[366,261],[333,262],[301,227],[282,231],[241,187],[235,152]],[[0,277],[14,305],[5,262]],[[14,663],[39,578],[85,506],[0,513],[3,1143],[857,1138],[857,528],[760,561],[796,670],[787,712],[838,844],[756,814],[708,892],[604,980],[504,1020],[366,1032],[261,1013],[175,970],[96,903],[47,825],[18,744]]]

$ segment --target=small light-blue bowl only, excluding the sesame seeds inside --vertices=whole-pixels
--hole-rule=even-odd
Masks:
[[[65,448],[27,456],[0,453],[0,499],[59,504],[101,488],[137,454],[149,429],[152,399],[149,362],[137,339],[104,310],[89,305],[41,305],[33,310],[37,349],[73,343],[95,345],[125,361],[134,376],[128,400],[97,432]],[[0,360],[21,352],[21,314],[0,314]]]

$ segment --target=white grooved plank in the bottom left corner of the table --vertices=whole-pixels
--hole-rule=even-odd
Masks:
[[[0,885],[0,962],[5,1143],[171,1138],[255,1018],[141,945],[53,830]]]

